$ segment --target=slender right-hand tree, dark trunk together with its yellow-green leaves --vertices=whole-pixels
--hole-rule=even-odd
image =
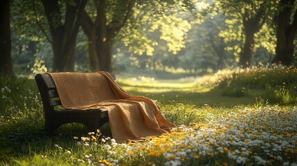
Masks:
[[[253,53],[261,46],[267,49],[273,35],[267,28],[272,13],[276,10],[276,1],[217,1],[217,6],[226,15],[226,30],[222,30],[224,41],[232,43],[226,50],[233,51],[242,67],[251,66]],[[268,32],[267,32],[268,30]],[[260,38],[260,36],[265,36]],[[271,45],[271,44],[270,44]]]

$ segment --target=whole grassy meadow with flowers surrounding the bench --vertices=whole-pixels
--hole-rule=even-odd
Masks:
[[[120,77],[158,102],[177,125],[159,137],[117,143],[106,124],[87,133],[43,131],[33,77],[1,77],[0,165],[297,165],[297,69],[226,68],[201,77]]]

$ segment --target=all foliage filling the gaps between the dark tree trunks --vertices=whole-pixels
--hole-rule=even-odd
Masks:
[[[192,2],[192,3],[191,3]],[[72,1],[61,2],[61,6]],[[96,2],[88,1],[87,12],[94,19]],[[120,20],[124,1],[107,1],[107,23]],[[269,11],[265,23],[255,34],[254,64],[269,63],[275,54],[274,18],[278,1],[135,1],[131,17],[116,35],[114,68],[164,70],[185,68],[190,71],[216,71],[231,66],[242,52],[244,12],[254,15],[262,3]],[[48,37],[48,22],[41,1],[12,1],[12,61],[15,73],[31,73],[35,59],[44,59],[51,71],[53,51]],[[63,21],[63,20],[62,20]],[[119,23],[114,26],[118,26]],[[210,35],[213,38],[210,39]],[[222,40],[224,42],[222,42]],[[224,50],[215,53],[222,44]],[[75,48],[75,71],[90,71],[87,37],[82,30]],[[296,49],[294,50],[296,52]],[[120,56],[116,54],[120,53]],[[217,66],[222,56],[224,65]],[[124,63],[125,62],[125,63]],[[208,68],[208,69],[206,69]]]

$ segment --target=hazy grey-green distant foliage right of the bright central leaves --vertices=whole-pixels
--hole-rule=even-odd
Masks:
[[[204,21],[199,25],[193,25],[188,33],[186,49],[179,55],[179,66],[186,70],[197,71],[207,69],[213,71],[222,68],[225,64],[230,64],[232,57],[226,57],[225,44],[222,38],[217,37],[220,29],[224,29],[224,16],[204,17]],[[225,62],[219,64],[219,56]]]

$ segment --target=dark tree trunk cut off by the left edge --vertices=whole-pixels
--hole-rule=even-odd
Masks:
[[[0,74],[12,74],[10,0],[0,1]]]

